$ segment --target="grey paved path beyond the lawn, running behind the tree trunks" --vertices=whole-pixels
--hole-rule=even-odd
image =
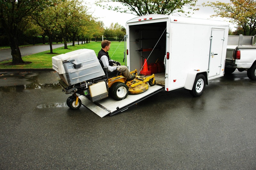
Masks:
[[[77,41],[75,42],[75,44],[77,44]],[[72,45],[72,42],[67,43],[67,45]],[[64,47],[64,43],[52,44],[52,49],[59,48],[59,47]],[[40,53],[47,50],[50,50],[49,44],[22,47],[20,48],[20,53],[21,53],[21,56],[23,57],[26,55],[36,54],[36,53]],[[0,62],[4,60],[11,60],[11,59],[12,59],[11,49],[0,50]]]

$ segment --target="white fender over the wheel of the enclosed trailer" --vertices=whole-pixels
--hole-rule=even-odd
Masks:
[[[197,74],[203,74],[204,77],[205,77],[205,80],[206,80],[205,83],[206,83],[206,85],[208,85],[208,76],[207,76],[206,71],[192,70],[192,71],[188,72],[186,82],[185,82],[185,85],[184,85],[184,89],[192,90]]]

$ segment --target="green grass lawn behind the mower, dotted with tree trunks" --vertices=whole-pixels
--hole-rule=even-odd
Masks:
[[[30,64],[24,64],[24,65],[5,65],[6,63],[11,63],[12,60],[3,61],[0,62],[0,69],[51,69],[52,68],[52,57],[59,54],[65,54],[70,51],[78,50],[78,49],[92,49],[95,51],[96,55],[98,55],[98,52],[101,49],[101,41],[99,42],[90,42],[88,44],[80,44],[75,46],[68,46],[69,49],[64,49],[64,47],[53,49],[53,53],[57,54],[48,54],[49,51],[44,51],[41,53],[33,54],[33,55],[27,55],[22,57],[22,60],[24,62],[32,62]],[[64,44],[63,44],[64,46]],[[49,46],[50,49],[50,46]],[[111,59],[118,61],[121,63],[121,65],[125,65],[123,62],[124,59],[124,41],[123,42],[111,42],[111,48],[108,51],[109,56]]]

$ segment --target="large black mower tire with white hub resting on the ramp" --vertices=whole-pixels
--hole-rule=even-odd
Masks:
[[[123,100],[128,95],[128,86],[125,83],[116,82],[111,86],[109,93],[115,100]]]

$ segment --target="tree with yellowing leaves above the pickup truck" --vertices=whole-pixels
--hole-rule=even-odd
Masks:
[[[237,25],[237,28],[243,28],[244,35],[254,35],[256,29],[256,1],[255,0],[230,0],[230,3],[222,3],[217,1],[202,4],[210,6],[219,16],[228,18]]]

